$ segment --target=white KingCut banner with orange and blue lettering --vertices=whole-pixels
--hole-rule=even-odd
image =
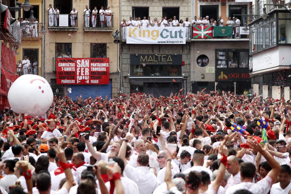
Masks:
[[[127,44],[186,44],[185,27],[126,27]]]

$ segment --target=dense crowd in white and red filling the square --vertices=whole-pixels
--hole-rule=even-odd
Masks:
[[[54,97],[1,110],[0,191],[291,193],[290,100],[210,92]]]

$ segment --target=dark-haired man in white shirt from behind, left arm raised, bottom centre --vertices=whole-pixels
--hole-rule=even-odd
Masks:
[[[131,141],[133,138],[132,134],[127,134],[123,143],[120,147],[118,157],[122,158],[124,161],[124,172],[127,175],[127,178],[133,180],[138,188],[140,194],[151,194],[158,186],[157,177],[150,172],[148,167],[149,156],[145,153],[141,153],[137,159],[137,166],[134,168],[128,164],[127,159],[125,158],[127,142]]]

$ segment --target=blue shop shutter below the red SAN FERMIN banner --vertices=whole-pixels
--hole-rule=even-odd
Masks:
[[[108,85],[67,85],[68,88],[71,88],[71,92],[68,92],[68,97],[73,100],[77,100],[77,96],[82,95],[83,100],[85,98],[92,97],[93,99],[96,96],[102,96],[105,99],[106,96],[108,98],[112,97],[112,82],[109,81]]]

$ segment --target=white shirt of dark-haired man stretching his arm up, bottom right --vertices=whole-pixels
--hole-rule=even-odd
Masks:
[[[267,194],[273,184],[273,180],[271,177],[266,176],[262,180],[258,181],[257,183],[251,182],[243,182],[237,185],[233,185],[226,189],[225,194],[233,194],[237,190],[246,189],[253,194]]]

